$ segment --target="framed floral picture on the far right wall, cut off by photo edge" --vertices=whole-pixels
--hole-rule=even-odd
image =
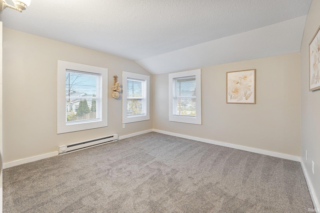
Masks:
[[[309,43],[309,91],[320,89],[320,26]]]

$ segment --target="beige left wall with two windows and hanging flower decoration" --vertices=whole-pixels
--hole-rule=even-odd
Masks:
[[[57,60],[108,68],[121,81],[122,71],[151,75],[134,61],[39,36],[3,29],[4,163],[57,151],[58,145],[117,133],[152,129],[152,121],[121,125],[121,100],[108,94],[108,127],[56,134]],[[152,77],[150,79],[152,88]],[[152,97],[151,97],[152,109]],[[152,113],[150,114],[152,118]]]

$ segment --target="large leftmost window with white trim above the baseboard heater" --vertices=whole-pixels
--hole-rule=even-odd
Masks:
[[[58,61],[57,76],[57,133],[107,126],[107,69]]]

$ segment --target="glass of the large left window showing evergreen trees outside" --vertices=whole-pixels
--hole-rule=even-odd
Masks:
[[[66,122],[99,118],[99,113],[96,113],[98,78],[99,75],[66,70]]]

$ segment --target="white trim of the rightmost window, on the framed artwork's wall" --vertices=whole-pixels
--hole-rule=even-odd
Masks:
[[[195,76],[195,116],[174,115],[173,112],[173,92],[174,79],[188,76]],[[199,124],[201,125],[201,69],[189,70],[184,72],[169,73],[169,121]]]

